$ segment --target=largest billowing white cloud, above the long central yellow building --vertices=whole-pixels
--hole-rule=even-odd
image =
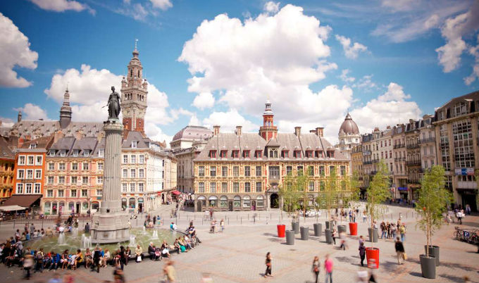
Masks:
[[[229,107],[227,113],[257,117],[269,96],[279,120],[318,121],[346,111],[352,100],[348,88],[328,86],[313,92],[309,87],[337,68],[325,60],[330,56],[325,44],[330,30],[292,5],[244,22],[221,14],[197,27],[178,60],[187,63],[192,74],[189,92],[219,92],[218,102]]]

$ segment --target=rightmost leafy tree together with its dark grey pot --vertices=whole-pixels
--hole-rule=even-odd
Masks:
[[[436,266],[439,265],[439,246],[433,246],[434,232],[442,225],[442,213],[452,201],[451,193],[444,188],[444,168],[435,165],[425,172],[421,179],[416,211],[421,215],[417,225],[425,233],[425,254],[419,256],[421,271],[425,278],[436,277]]]

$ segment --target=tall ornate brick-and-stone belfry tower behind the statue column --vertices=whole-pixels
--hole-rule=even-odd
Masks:
[[[133,58],[128,63],[127,77],[121,80],[121,113],[125,136],[129,131],[144,134],[144,114],[147,112],[148,83],[143,80],[143,67],[138,58],[137,42]]]

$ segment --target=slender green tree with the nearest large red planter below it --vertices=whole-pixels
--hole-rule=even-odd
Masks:
[[[380,203],[386,201],[389,196],[390,178],[387,176],[387,165],[384,161],[378,163],[378,171],[369,183],[367,189],[368,213],[371,216],[371,226],[368,227],[369,241],[375,243],[378,241],[378,228],[375,220],[380,215]],[[373,247],[366,248],[366,258],[368,265],[372,259],[375,260],[376,268],[379,268],[379,249]]]

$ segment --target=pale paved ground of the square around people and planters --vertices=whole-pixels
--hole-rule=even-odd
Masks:
[[[166,215],[168,222],[170,207],[162,208],[162,215]],[[301,218],[301,225],[311,227],[309,241],[301,241],[297,235],[294,246],[287,246],[284,238],[278,238],[276,225],[280,220],[280,212],[256,212],[254,213],[217,213],[216,218],[227,219],[225,232],[209,233],[209,223],[203,221],[203,213],[182,212],[178,221],[179,229],[185,229],[189,220],[194,219],[194,225],[198,228],[201,245],[188,253],[173,255],[175,268],[179,282],[201,282],[201,276],[207,272],[213,278],[213,282],[311,282],[313,279],[311,263],[314,256],[319,256],[323,263],[324,256],[329,253],[334,261],[334,282],[357,282],[357,272],[361,270],[359,265],[358,237],[349,237],[349,249],[346,251],[337,249],[336,246],[326,244],[325,237],[313,236],[313,222],[315,219]],[[464,282],[468,277],[471,282],[479,282],[479,254],[477,248],[471,244],[455,241],[452,239],[454,226],[445,225],[433,237],[433,244],[440,246],[441,265],[437,267],[436,279],[421,277],[419,255],[423,253],[425,237],[423,232],[416,229],[415,213],[411,208],[389,206],[385,213],[385,220],[396,221],[399,213],[407,226],[404,246],[409,259],[404,265],[397,265],[392,239],[379,239],[374,246],[380,249],[380,268],[375,270],[378,282]],[[238,217],[238,220],[237,220]],[[282,224],[290,227],[291,220],[283,213]],[[228,225],[228,219],[230,224]],[[325,221],[325,215],[319,219]],[[343,221],[344,224],[347,222]],[[164,223],[165,227],[168,223]],[[479,227],[478,216],[468,216],[461,227]],[[20,226],[21,228],[21,226]],[[7,229],[1,227],[1,236],[4,237]],[[367,234],[367,226],[359,221],[359,233]],[[339,243],[339,241],[337,241]],[[366,246],[371,243],[366,242]],[[264,260],[266,253],[270,251],[273,258],[273,276],[265,279],[262,277],[265,271]],[[130,263],[125,266],[127,282],[158,282],[162,277],[163,263],[144,260],[142,263]],[[20,282],[23,270],[20,268],[6,268],[1,265],[0,272],[5,277],[3,282]],[[89,272],[84,268],[71,271],[75,276],[75,282],[101,282],[112,280],[113,268],[102,268],[100,273]],[[65,271],[57,271],[64,275]],[[46,282],[53,277],[54,272],[43,272],[32,277],[34,282]],[[324,282],[325,272],[321,265],[320,282]]]

